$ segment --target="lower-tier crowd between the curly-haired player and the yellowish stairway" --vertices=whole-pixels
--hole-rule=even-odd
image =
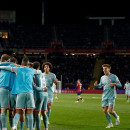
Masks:
[[[89,84],[92,79],[96,58],[87,55],[59,55],[49,56],[54,65],[53,72],[64,84],[75,84],[77,79]]]

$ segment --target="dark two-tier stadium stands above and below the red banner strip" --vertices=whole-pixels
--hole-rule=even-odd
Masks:
[[[119,28],[119,26],[121,26]],[[10,49],[20,50],[24,48],[40,48],[48,49],[53,48],[51,42],[62,41],[61,48],[68,49],[128,49],[129,46],[129,33],[130,26],[128,24],[115,24],[114,26],[99,26],[98,24],[58,24],[58,25],[40,25],[40,24],[18,24],[8,22],[0,23],[0,31],[8,30],[9,38],[8,45],[1,46],[5,48],[7,53]],[[109,31],[109,33],[105,32]],[[109,41],[106,37],[109,34]],[[111,48],[104,48],[102,43],[114,43]],[[0,45],[5,45],[4,40],[0,39]],[[105,45],[105,44],[104,44]],[[60,49],[60,48],[59,48]],[[3,53],[3,52],[1,52]],[[13,53],[11,51],[11,53]],[[16,53],[20,61],[23,54]],[[54,65],[53,72],[60,79],[62,75],[63,85],[75,84],[77,78],[82,79],[83,84],[89,86],[90,81],[94,80],[93,70],[96,59],[100,55],[105,63],[112,65],[112,72],[118,75],[122,84],[129,78],[128,66],[130,65],[129,55],[109,55],[107,53],[93,54],[75,54],[68,53],[47,53],[45,54],[34,53],[26,54],[30,61],[43,62],[48,60]],[[121,61],[121,62],[120,62]],[[19,62],[20,63],[20,62]],[[122,67],[124,66],[124,67]],[[125,75],[125,76],[124,76]]]

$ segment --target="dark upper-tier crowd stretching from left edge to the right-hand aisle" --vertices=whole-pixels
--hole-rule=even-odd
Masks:
[[[50,48],[51,42],[62,41],[64,48],[100,48],[103,28],[98,24],[18,24],[1,23],[8,30],[8,48]]]

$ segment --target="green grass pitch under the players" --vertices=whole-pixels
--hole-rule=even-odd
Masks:
[[[82,94],[84,103],[77,100],[76,94],[59,94],[54,99],[50,115],[49,130],[103,130],[108,125],[101,108],[101,94]],[[130,102],[126,102],[124,94],[118,94],[115,111],[120,116],[120,125],[115,125],[111,116],[114,130],[130,130]],[[25,125],[26,126],[26,125]],[[25,128],[25,127],[24,127]],[[8,122],[8,129],[10,129]],[[19,125],[18,125],[19,129]],[[25,128],[26,129],[26,128]],[[44,129],[41,121],[41,130]]]

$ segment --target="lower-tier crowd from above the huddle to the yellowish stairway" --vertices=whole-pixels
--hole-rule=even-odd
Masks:
[[[28,56],[30,62],[39,61],[42,69],[42,63],[45,62],[44,55],[30,54],[24,56]],[[23,55],[15,55],[15,57],[21,64]],[[62,80],[62,85],[75,85],[77,79],[81,79],[83,85],[89,85],[93,78],[96,57],[92,55],[49,54],[47,61],[52,63],[52,72],[56,74],[59,80]]]

